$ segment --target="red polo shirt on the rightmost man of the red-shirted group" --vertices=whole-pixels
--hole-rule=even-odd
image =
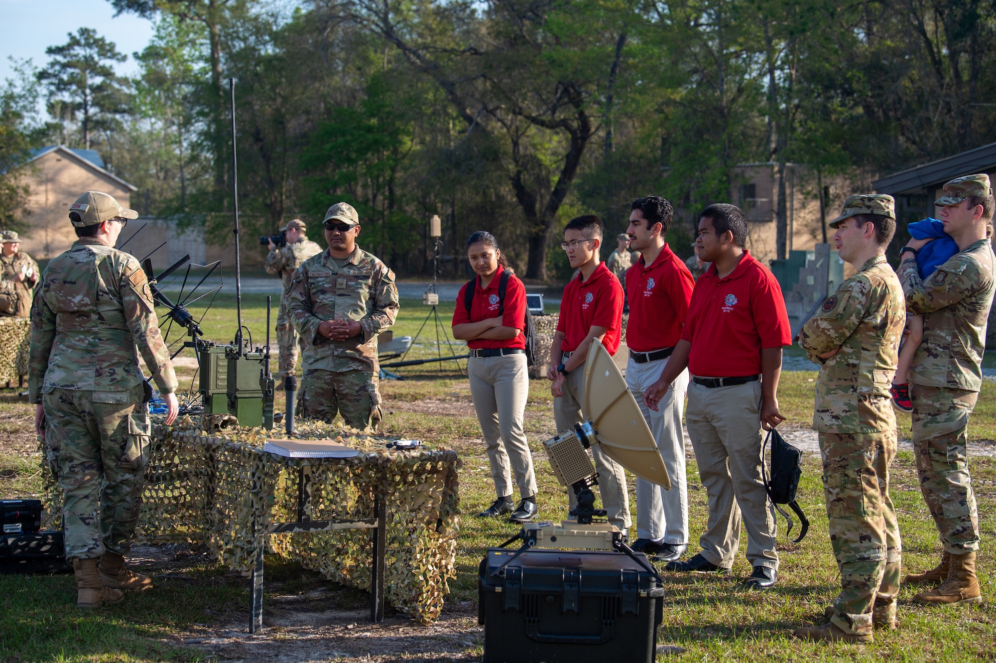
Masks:
[[[775,276],[747,251],[725,279],[711,265],[695,282],[681,338],[691,342],[688,371],[692,375],[757,375],[761,348],[792,342],[785,300]]]

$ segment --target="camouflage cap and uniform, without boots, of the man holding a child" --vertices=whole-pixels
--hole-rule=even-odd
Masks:
[[[984,190],[990,190],[988,177],[972,177],[945,184],[947,195],[936,204],[954,205],[965,195],[979,195],[969,187],[982,184],[982,178]],[[898,274],[906,310],[923,316],[923,340],[909,370],[920,491],[944,550],[977,552],[979,516],[966,445],[968,415],[982,385],[980,364],[996,288],[996,257],[990,241],[982,239],[956,253],[926,280],[920,279],[912,254],[903,257]]]

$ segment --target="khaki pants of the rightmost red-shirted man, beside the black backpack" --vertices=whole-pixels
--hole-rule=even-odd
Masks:
[[[688,384],[685,426],[709,495],[702,556],[730,568],[747,527],[747,560],[778,568],[775,510],[761,480],[761,383],[709,388]]]

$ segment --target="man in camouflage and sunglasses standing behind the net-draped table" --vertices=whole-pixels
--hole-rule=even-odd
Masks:
[[[332,422],[337,412],[354,428],[380,423],[376,336],[394,324],[394,273],[356,244],[357,211],[337,203],[326,212],[329,248],[294,272],[287,316],[301,334],[302,417]]]

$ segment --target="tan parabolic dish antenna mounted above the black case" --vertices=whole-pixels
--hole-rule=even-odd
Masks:
[[[602,450],[637,477],[665,490],[671,480],[664,459],[620,369],[597,340],[588,350],[581,408],[595,428]]]

